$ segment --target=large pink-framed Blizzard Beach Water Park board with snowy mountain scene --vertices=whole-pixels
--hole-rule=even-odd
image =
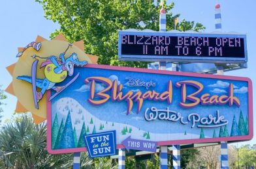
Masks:
[[[86,151],[84,135],[113,130],[117,148],[129,136],[157,146],[253,136],[248,78],[95,64],[78,73],[48,102],[50,153]],[[47,99],[54,94],[48,90]]]

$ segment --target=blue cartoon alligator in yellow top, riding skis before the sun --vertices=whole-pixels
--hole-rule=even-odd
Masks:
[[[55,57],[55,56],[51,56],[51,57],[48,57],[48,58],[42,58],[42,57],[39,57],[39,56],[36,56],[36,55],[32,56],[33,58],[39,57],[40,59],[46,59],[46,61],[42,62],[42,64],[40,65],[40,68],[45,66],[45,68],[44,68],[45,78],[44,79],[37,79],[35,77],[36,78],[35,79],[35,86],[37,86],[41,90],[40,90],[40,92],[37,92],[37,90],[35,89],[35,94],[34,94],[34,91],[33,91],[34,101],[35,101],[35,98],[36,98],[37,102],[39,102],[40,99],[42,99],[42,96],[44,95],[46,90],[53,89],[57,93],[61,92],[64,88],[67,87],[67,85],[65,85],[65,86],[56,86],[56,83],[60,83],[60,82],[64,81],[66,79],[67,75],[72,76],[73,73],[74,73],[74,66],[85,66],[86,64],[88,64],[87,61],[82,61],[82,62],[79,61],[78,58],[77,58],[76,53],[72,53],[70,55],[70,57],[65,59],[64,58],[65,52],[61,53],[59,55],[59,59],[61,61],[57,60],[57,57]],[[37,60],[37,62],[38,62],[38,60]],[[35,66],[35,69],[36,69],[36,66]],[[36,72],[36,70],[34,70],[34,71]],[[32,72],[33,72],[33,68],[32,68]],[[33,73],[32,73],[32,76],[33,76]],[[27,81],[28,83],[31,83],[33,85],[32,76],[22,75],[22,76],[18,76],[17,79],[20,79],[22,81]],[[78,77],[78,75],[76,75],[76,78],[77,77]],[[74,78],[74,80],[76,78]]]

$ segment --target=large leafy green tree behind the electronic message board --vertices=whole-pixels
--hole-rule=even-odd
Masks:
[[[146,62],[118,61],[118,30],[152,29],[159,31],[159,1],[153,0],[35,0],[42,5],[44,16],[59,23],[69,42],[84,40],[86,53],[99,56],[99,64],[146,67]],[[167,31],[174,29],[174,3],[164,5],[167,10]],[[183,19],[176,29],[180,31],[205,29],[202,24]]]

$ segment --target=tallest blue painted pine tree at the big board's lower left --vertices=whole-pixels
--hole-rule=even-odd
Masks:
[[[74,134],[71,121],[71,112],[67,114],[67,119],[61,134],[61,140],[59,143],[60,148],[74,148]]]

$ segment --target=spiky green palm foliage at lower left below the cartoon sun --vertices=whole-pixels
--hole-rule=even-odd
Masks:
[[[62,168],[72,166],[72,154],[51,155],[46,150],[46,123],[35,125],[23,115],[0,129],[0,166]]]

